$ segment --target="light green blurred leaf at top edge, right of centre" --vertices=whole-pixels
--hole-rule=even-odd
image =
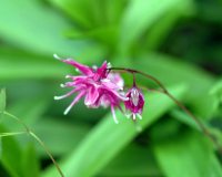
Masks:
[[[120,49],[125,52],[155,21],[175,7],[183,6],[182,0],[131,0],[120,29]]]

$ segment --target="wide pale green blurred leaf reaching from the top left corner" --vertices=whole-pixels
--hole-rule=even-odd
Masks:
[[[26,10],[22,10],[26,9]],[[69,21],[38,0],[6,1],[0,6],[0,35],[20,48],[50,56],[53,53],[83,56],[101,48],[89,41],[70,41],[62,32],[73,28]],[[92,58],[92,56],[91,56]],[[42,70],[43,71],[43,70]]]

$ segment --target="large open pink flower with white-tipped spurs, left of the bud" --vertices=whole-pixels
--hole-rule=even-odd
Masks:
[[[78,93],[71,104],[64,111],[68,114],[72,106],[84,96],[84,104],[88,107],[97,108],[99,106],[111,107],[113,119],[118,123],[114,108],[120,108],[120,103],[128,101],[122,93],[123,80],[119,74],[108,72],[108,63],[103,62],[100,67],[89,67],[80,64],[71,59],[61,60],[58,55],[56,59],[73,65],[81,75],[67,75],[67,79],[71,79],[71,82],[61,84],[61,87],[71,87],[72,90],[62,96],[54,96],[54,100],[61,100],[71,96],[73,93]]]

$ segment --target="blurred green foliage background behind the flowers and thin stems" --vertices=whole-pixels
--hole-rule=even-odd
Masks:
[[[62,58],[133,67],[154,75],[221,143],[222,0],[1,0],[0,87],[7,111],[44,142],[67,177],[221,177],[221,155],[200,127],[167,96],[144,92],[143,127],[118,112],[69,115],[72,97],[56,102],[72,66]],[[125,84],[132,77],[123,75]],[[158,88],[138,76],[139,84]],[[0,94],[3,110],[3,91]],[[1,132],[23,127],[1,115]],[[27,135],[1,137],[1,177],[57,177]]]

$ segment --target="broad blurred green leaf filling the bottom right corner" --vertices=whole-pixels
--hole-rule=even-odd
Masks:
[[[222,176],[212,146],[203,135],[180,134],[154,145],[154,154],[167,177]]]

